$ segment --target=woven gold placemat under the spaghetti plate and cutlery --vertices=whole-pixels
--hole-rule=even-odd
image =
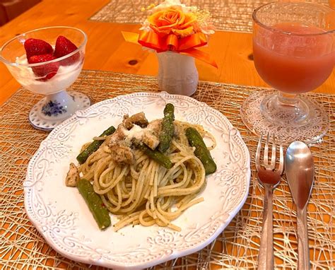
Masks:
[[[240,119],[240,105],[262,88],[201,81],[193,98],[206,102],[228,117],[249,148],[252,178],[241,211],[211,245],[155,269],[255,269],[259,250],[264,190],[256,179],[254,153],[258,137]],[[158,91],[155,77],[82,71],[71,90],[86,93],[92,102],[139,91]],[[311,146],[316,177],[308,205],[312,269],[335,267],[335,96],[310,93],[322,103],[331,123],[324,141]],[[102,269],[73,262],[54,252],[28,220],[24,209],[23,180],[32,155],[47,136],[28,122],[28,112],[39,95],[19,89],[0,107],[0,268],[1,269]],[[295,206],[283,177],[274,192],[274,254],[276,269],[296,269]]]

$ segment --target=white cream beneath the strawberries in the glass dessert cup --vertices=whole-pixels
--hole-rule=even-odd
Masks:
[[[25,55],[16,57],[16,63],[20,65],[8,66],[8,69],[18,83],[24,88],[42,95],[50,95],[61,90],[66,90],[66,88],[76,81],[83,67],[83,61],[76,61],[76,63],[70,66],[59,66],[57,74],[54,77],[46,81],[39,81],[40,77],[34,74],[31,67],[21,66],[22,64],[28,64]]]

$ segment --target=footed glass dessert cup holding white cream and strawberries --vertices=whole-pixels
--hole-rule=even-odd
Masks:
[[[51,61],[28,64],[25,40],[30,38],[44,40],[54,49],[57,37],[60,35],[71,40],[77,49]],[[66,91],[81,73],[86,42],[87,35],[82,30],[56,26],[23,33],[13,37],[1,47],[0,60],[4,62],[16,81],[33,93],[46,95],[30,110],[29,121],[36,129],[52,130],[74,115],[77,110],[90,106],[90,99],[86,95]]]

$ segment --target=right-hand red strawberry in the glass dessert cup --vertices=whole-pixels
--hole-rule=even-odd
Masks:
[[[70,40],[68,40],[66,37],[60,35],[57,37],[56,40],[56,46],[54,47],[54,57],[64,57],[67,54],[71,54],[71,52],[74,52],[78,47],[74,45]],[[80,57],[79,52],[74,54],[73,56],[64,59],[61,61],[61,64],[64,66],[69,66],[73,64],[74,62],[78,61]]]

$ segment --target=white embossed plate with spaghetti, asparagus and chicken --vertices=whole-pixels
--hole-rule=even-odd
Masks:
[[[139,269],[208,245],[245,203],[249,152],[217,110],[134,93],[78,111],[28,165],[25,209],[54,250]]]

